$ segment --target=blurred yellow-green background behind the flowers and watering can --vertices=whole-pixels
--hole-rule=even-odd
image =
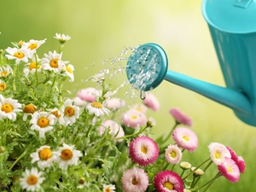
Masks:
[[[63,60],[74,65],[78,90],[83,88],[81,79],[102,68],[101,61],[118,55],[124,47],[149,42],[160,44],[166,50],[169,69],[224,86],[199,0],[1,1],[0,32],[0,49],[21,39],[47,38],[46,44],[38,50],[41,56],[58,48],[53,38],[55,32],[71,36]],[[96,67],[84,70],[92,63]],[[67,83],[67,88],[72,89],[72,86]],[[199,148],[193,154],[185,153],[183,160],[197,166],[207,159],[207,145],[211,142],[230,146],[246,160],[247,169],[239,183],[232,184],[222,177],[209,191],[256,188],[253,182],[256,130],[253,126],[242,123],[231,109],[177,85],[163,82],[152,92],[160,101],[160,111],[148,113],[157,121],[154,137],[172,128],[174,120],[168,113],[170,108],[180,108],[193,119],[192,129],[199,137]],[[211,173],[207,172],[201,181],[206,182],[217,172],[215,167],[211,168]]]

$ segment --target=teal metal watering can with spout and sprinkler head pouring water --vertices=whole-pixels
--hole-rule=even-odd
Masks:
[[[256,0],[203,0],[202,13],[227,87],[168,70],[166,52],[158,44],[143,44],[131,53],[127,78],[142,92],[165,79],[233,109],[243,122],[256,126]]]

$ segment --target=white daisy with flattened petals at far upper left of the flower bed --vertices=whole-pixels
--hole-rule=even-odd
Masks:
[[[5,55],[9,60],[15,60],[15,63],[18,65],[20,61],[27,62],[30,58],[29,51],[26,48],[7,48],[5,49],[9,55]]]

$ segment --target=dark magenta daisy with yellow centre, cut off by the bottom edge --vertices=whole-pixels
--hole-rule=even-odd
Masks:
[[[176,172],[166,170],[156,174],[154,188],[157,192],[183,192],[183,180]]]

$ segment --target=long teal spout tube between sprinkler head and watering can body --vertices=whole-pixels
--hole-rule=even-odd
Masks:
[[[199,79],[193,79],[181,73],[168,70],[165,80],[180,85],[189,90],[193,90],[202,96],[207,96],[215,102],[221,103],[228,108],[232,108],[240,113],[250,115],[253,108],[247,96],[237,90],[221,87],[216,84],[209,84]]]

